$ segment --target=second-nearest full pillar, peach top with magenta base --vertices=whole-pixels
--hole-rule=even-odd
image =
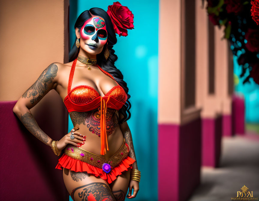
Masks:
[[[222,115],[216,88],[215,34],[207,14],[207,1],[196,1],[197,106],[202,107],[202,165],[217,167],[221,150]]]

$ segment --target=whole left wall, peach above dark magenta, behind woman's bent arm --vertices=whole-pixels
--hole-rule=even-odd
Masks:
[[[29,133],[12,111],[16,100],[49,64],[67,62],[68,7],[69,0],[0,1],[0,125],[1,130],[10,128],[1,142],[7,145],[6,153],[14,159],[2,175],[8,180],[1,188],[1,198],[6,198],[3,200],[8,200],[10,194],[13,200],[34,200],[42,194],[42,189],[42,200],[68,200],[62,172],[55,169],[57,156]],[[55,90],[30,111],[40,128],[53,140],[67,134],[68,112]],[[22,153],[21,157],[18,152]],[[2,161],[9,160],[7,154],[4,157],[6,160]],[[8,177],[10,173],[15,176]],[[24,181],[25,185],[20,185],[19,181]],[[17,188],[19,193],[13,194],[13,189]]]

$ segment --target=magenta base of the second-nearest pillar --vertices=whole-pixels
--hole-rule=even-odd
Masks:
[[[222,117],[202,119],[202,149],[203,166],[219,167],[222,136]]]

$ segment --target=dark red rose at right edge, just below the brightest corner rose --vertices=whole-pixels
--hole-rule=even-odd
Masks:
[[[247,40],[246,48],[250,52],[259,51],[259,30],[249,28],[246,32],[245,39]]]

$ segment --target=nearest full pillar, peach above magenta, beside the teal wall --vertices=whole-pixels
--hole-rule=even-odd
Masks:
[[[158,200],[186,200],[200,182],[195,1],[159,1]]]

